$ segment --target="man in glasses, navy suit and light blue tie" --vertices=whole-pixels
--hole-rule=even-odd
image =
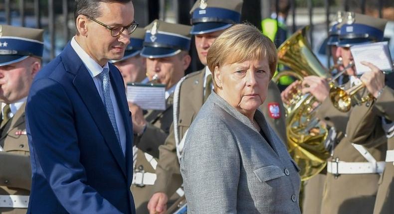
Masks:
[[[131,0],[76,0],[76,35],[33,81],[26,105],[30,214],[135,214],[123,57]]]

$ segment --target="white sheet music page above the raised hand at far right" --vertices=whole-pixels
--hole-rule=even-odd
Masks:
[[[353,55],[357,75],[371,71],[369,67],[361,64],[361,61],[372,63],[385,73],[393,71],[393,62],[387,41],[354,45],[350,51]]]

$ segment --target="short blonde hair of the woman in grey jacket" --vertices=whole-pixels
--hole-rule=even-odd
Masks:
[[[274,43],[255,26],[242,23],[227,28],[210,46],[206,61],[212,73],[213,84],[215,67],[225,63],[239,63],[246,60],[267,58],[271,78],[276,70],[277,54]]]

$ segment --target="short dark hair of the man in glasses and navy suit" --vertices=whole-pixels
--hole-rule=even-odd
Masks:
[[[100,2],[104,3],[129,3],[131,0],[75,0],[74,4],[74,23],[77,21],[78,15],[88,15],[92,18],[101,16]],[[77,34],[79,32],[77,31]]]

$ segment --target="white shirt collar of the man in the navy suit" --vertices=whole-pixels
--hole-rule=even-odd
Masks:
[[[92,57],[90,57],[85,50],[82,49],[82,47],[78,44],[78,42],[75,40],[75,36],[72,37],[71,39],[71,47],[74,49],[74,51],[77,53],[79,58],[81,58],[83,64],[86,66],[88,69],[88,72],[90,76],[96,77],[99,75],[102,71],[103,68],[108,68],[108,62],[104,65],[104,67],[101,67]]]

